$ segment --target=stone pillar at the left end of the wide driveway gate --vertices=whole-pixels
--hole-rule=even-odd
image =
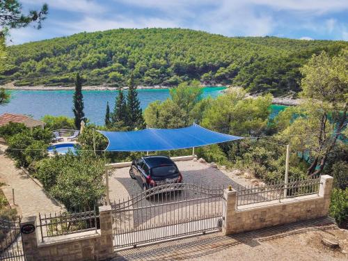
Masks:
[[[100,260],[113,257],[113,230],[111,205],[99,207],[100,219]]]

